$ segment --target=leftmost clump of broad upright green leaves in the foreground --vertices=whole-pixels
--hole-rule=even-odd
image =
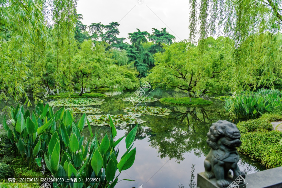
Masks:
[[[18,153],[22,155],[23,160],[27,160],[29,168],[32,167],[38,155],[42,157],[47,147],[46,139],[50,131],[55,129],[55,118],[58,118],[61,112],[62,110],[54,114],[48,104],[44,107],[41,103],[35,107],[32,114],[29,110],[24,112],[24,107],[21,105],[16,108],[11,106],[12,129],[7,126],[6,117],[4,117],[3,127],[7,131],[8,138],[17,145]]]

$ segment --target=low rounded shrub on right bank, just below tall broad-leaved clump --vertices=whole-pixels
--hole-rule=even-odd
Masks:
[[[269,121],[267,121],[266,119],[263,119],[263,118],[239,122],[239,123],[237,123],[237,127],[238,126],[245,127],[248,132],[257,131],[257,130],[269,130],[269,131],[271,131],[272,128],[273,128],[271,123],[269,123]],[[243,130],[243,132],[244,132],[244,130]]]

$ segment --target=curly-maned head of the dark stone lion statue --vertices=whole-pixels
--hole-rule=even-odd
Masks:
[[[226,120],[212,123],[207,137],[207,144],[214,150],[235,150],[242,144],[240,131],[234,123]]]

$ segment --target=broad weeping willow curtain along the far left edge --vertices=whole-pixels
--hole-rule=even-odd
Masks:
[[[29,104],[25,89],[37,99],[47,38],[40,3],[0,0],[0,100],[25,97]]]

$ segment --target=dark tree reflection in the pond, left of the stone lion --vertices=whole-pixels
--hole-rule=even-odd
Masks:
[[[192,150],[198,157],[208,154],[206,133],[212,123],[226,117],[210,107],[175,107],[175,111],[170,116],[151,118],[152,122],[148,123],[150,146],[158,150],[161,158],[175,158],[177,163],[184,159],[184,153]]]

